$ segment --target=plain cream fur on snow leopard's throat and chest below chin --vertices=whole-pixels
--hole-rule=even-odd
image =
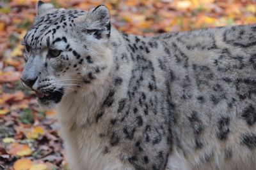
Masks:
[[[71,169],[129,169],[118,159],[118,148],[109,151],[108,141],[101,138],[106,125],[95,124],[99,108],[95,103],[93,96],[70,94],[57,109],[59,132]]]

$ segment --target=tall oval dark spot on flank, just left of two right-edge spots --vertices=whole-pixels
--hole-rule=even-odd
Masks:
[[[228,137],[229,130],[229,124],[230,119],[229,117],[221,117],[220,120],[218,120],[218,129],[219,132],[217,133],[217,136],[220,140],[225,140]]]

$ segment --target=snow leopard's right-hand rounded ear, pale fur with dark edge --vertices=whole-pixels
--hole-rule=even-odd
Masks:
[[[77,18],[77,24],[82,27],[86,34],[93,34],[95,38],[109,38],[111,24],[109,10],[106,6],[100,5],[88,11],[83,17]]]

